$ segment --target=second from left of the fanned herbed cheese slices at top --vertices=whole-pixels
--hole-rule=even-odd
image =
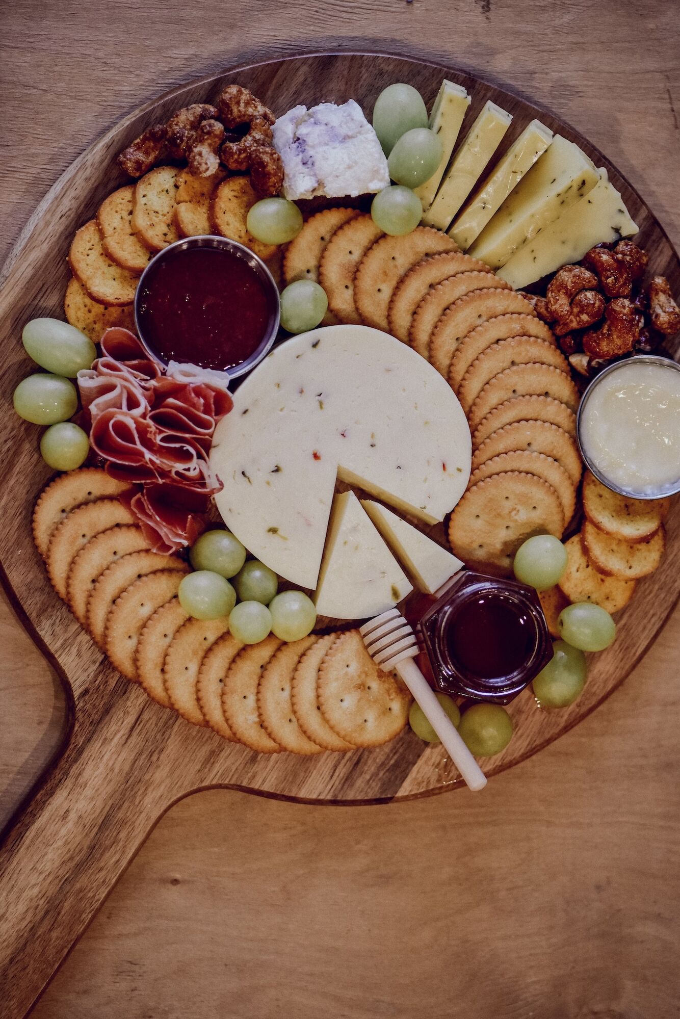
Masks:
[[[465,137],[436,198],[423,216],[426,226],[446,230],[484,171],[510,127],[512,116],[490,100]]]

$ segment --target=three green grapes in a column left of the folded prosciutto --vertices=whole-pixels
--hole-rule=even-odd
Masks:
[[[29,375],[14,389],[14,410],[24,421],[48,425],[40,441],[43,460],[55,471],[74,471],[90,451],[87,432],[68,419],[77,410],[70,381],[97,357],[95,344],[80,329],[58,319],[28,322],[21,340],[44,372]]]

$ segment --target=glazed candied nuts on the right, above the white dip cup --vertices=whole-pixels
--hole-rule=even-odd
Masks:
[[[563,266],[544,298],[525,294],[581,375],[631,352],[649,354],[680,330],[680,308],[666,277],[644,285],[647,262],[631,240],[597,245],[579,265]]]

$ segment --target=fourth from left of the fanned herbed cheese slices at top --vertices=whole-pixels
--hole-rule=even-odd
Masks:
[[[585,153],[556,135],[468,254],[491,269],[500,269],[522,245],[591,192],[598,179],[595,165]]]

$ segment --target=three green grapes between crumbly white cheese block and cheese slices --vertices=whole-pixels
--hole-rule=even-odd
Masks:
[[[395,183],[375,196],[371,216],[394,236],[410,233],[420,222],[422,205],[413,189],[429,180],[441,160],[441,141],[428,123],[423,98],[411,85],[390,85],[375,101],[373,128]]]

